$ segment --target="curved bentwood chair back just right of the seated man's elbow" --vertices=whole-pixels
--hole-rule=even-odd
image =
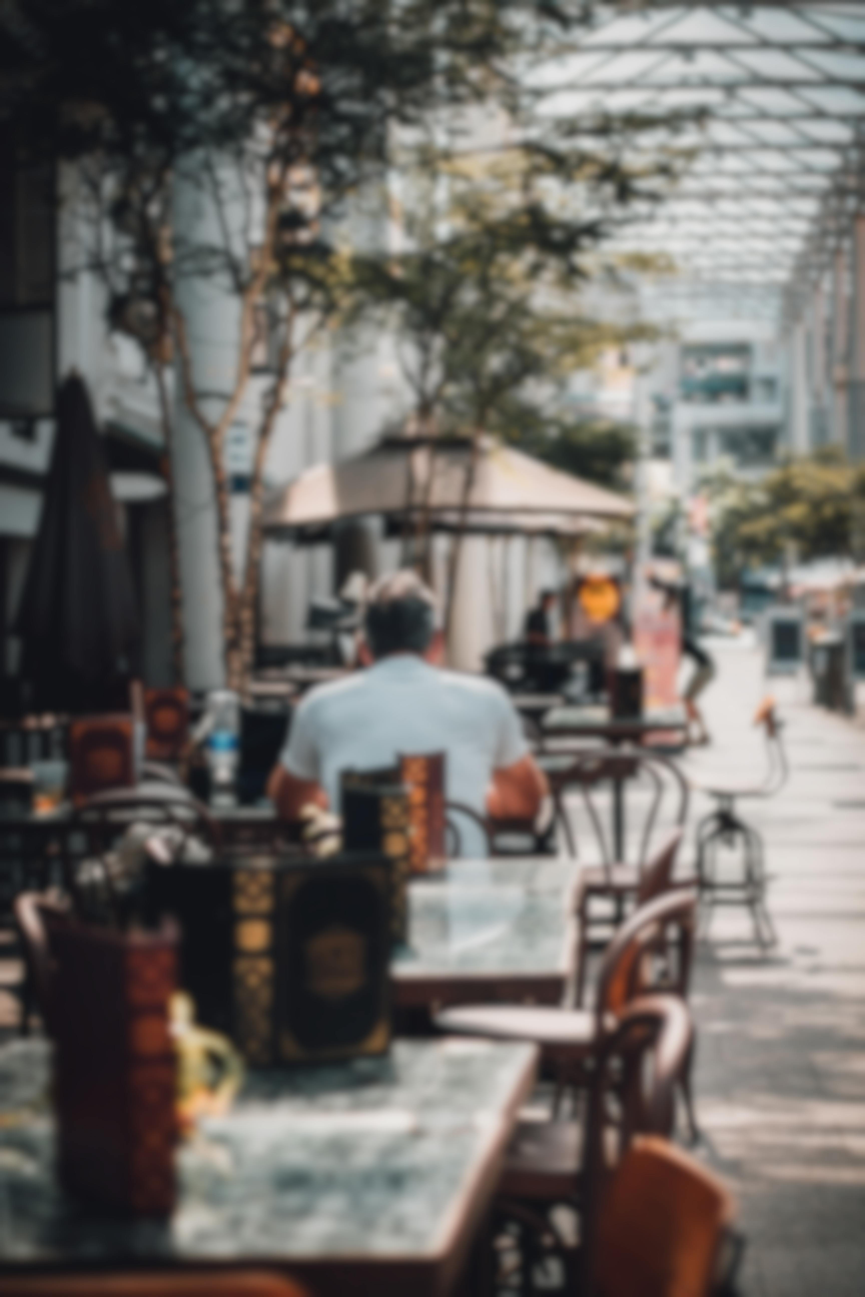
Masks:
[[[558,752],[550,752],[558,757]],[[648,747],[603,747],[582,748],[568,754],[571,760],[564,764],[555,761],[547,769],[543,767],[550,790],[560,813],[562,798],[568,789],[578,790],[591,825],[600,860],[604,865],[646,864],[652,844],[652,833],[659,822],[661,809],[668,807],[672,824],[685,825],[687,818],[689,786],[676,763],[663,752]],[[635,859],[613,861],[612,843],[603,827],[604,816],[598,807],[598,790],[611,782],[641,785],[645,790],[645,804],[641,809],[639,839]],[[629,818],[633,820],[633,798],[629,805]]]

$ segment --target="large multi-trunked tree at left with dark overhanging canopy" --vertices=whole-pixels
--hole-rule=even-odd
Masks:
[[[166,441],[169,374],[205,438],[219,518],[228,682],[252,660],[262,472],[293,359],[341,300],[335,220],[381,179],[394,126],[512,99],[502,75],[590,5],[550,0],[8,0],[0,8],[0,119],[27,157],[73,160],[112,327],[156,376]],[[184,239],[178,179],[218,214]],[[240,195],[240,200],[237,200]],[[240,224],[232,205],[240,201]],[[219,412],[201,398],[182,285],[218,278],[240,303]],[[224,445],[266,319],[271,383],[254,429],[245,569],[233,571]]]

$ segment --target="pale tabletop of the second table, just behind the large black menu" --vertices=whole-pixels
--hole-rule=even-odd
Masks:
[[[445,877],[414,879],[396,1003],[560,1003],[575,968],[577,875],[572,860],[529,856],[453,860]]]

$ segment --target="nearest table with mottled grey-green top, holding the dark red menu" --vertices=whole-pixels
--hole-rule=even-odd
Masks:
[[[21,1270],[278,1268],[315,1297],[440,1297],[489,1209],[534,1047],[397,1040],[389,1056],[249,1074],[180,1148],[167,1220],[66,1197],[51,1047],[0,1047],[0,1292]]]

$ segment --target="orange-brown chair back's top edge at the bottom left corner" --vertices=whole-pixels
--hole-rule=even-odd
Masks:
[[[6,1275],[4,1297],[309,1297],[293,1279],[258,1270]]]

